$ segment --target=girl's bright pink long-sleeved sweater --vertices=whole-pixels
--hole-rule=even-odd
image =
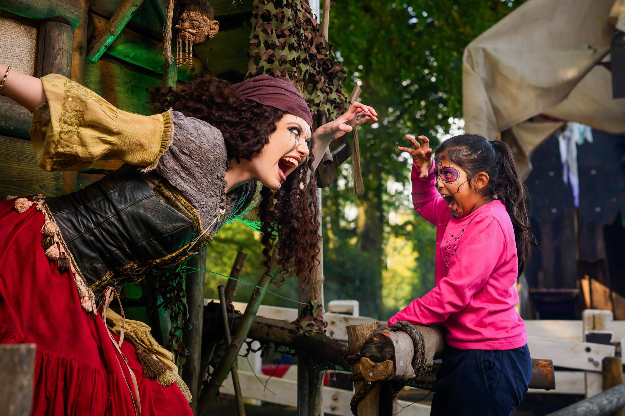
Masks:
[[[499,200],[463,218],[452,218],[435,188],[412,166],[414,209],[436,225],[436,287],[389,319],[429,325],[442,322],[449,346],[504,350],[527,343],[525,324],[514,306],[519,296],[512,222]]]

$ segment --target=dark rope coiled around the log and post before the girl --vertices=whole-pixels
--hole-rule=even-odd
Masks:
[[[413,326],[408,321],[397,321],[391,326],[388,326],[386,324],[381,324],[377,327],[377,329],[373,332],[372,335],[379,334],[379,332],[384,332],[384,331],[406,332],[406,334],[408,334],[408,336],[411,337],[412,342],[414,343],[414,355],[412,356],[412,370],[414,370],[413,378],[418,377],[422,372],[426,370],[424,367],[425,360],[426,360],[425,340],[423,339],[423,335],[421,334],[419,329],[417,329],[416,326]],[[361,354],[352,354],[352,355],[345,357],[344,364],[346,366],[349,366],[353,364],[354,362],[358,361],[359,359],[361,359]],[[361,374],[352,374],[349,376],[349,380],[361,381],[361,380],[364,380],[364,378],[362,377]],[[379,380],[378,382],[381,382],[381,381],[384,381],[384,380]],[[356,394],[354,394],[354,396],[352,397],[351,403],[349,404],[349,408],[351,409],[352,414],[354,416],[357,416],[358,414],[357,408],[358,408],[359,402],[361,402],[361,400],[364,399],[364,397],[366,397],[367,394],[369,394],[369,391],[371,391],[373,386],[374,386],[373,383],[367,382],[367,384],[362,385],[362,387],[358,389]]]

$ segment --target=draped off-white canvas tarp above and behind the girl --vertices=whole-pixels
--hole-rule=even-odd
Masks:
[[[625,0],[519,6],[464,51],[464,130],[489,140],[508,130],[521,160],[562,126],[529,121],[537,115],[625,133],[625,99],[612,99],[612,74],[599,64],[615,26],[625,30]]]

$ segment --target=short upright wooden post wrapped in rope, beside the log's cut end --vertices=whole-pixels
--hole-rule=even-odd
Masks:
[[[371,322],[367,324],[358,324],[347,326],[347,339],[349,342],[349,354],[355,355],[360,353],[362,344],[371,336],[377,328],[377,323]],[[359,362],[356,361],[352,365],[352,374],[360,374]],[[354,390],[358,392],[368,382],[365,380],[355,381]],[[369,393],[358,403],[358,416],[378,416],[379,415],[379,384],[374,385]]]

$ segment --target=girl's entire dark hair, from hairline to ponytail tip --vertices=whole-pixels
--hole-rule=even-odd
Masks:
[[[512,220],[521,276],[536,239],[529,231],[526,190],[510,148],[499,140],[489,142],[477,134],[462,134],[442,142],[436,153],[444,153],[460,165],[469,175],[469,180],[479,172],[488,174],[487,195],[501,200]]]

